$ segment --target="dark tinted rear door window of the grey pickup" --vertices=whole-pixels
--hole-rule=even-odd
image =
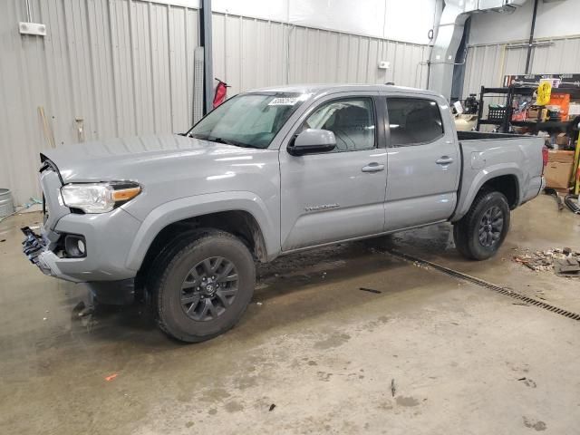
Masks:
[[[391,145],[409,147],[438,140],[443,121],[437,102],[420,98],[387,98]]]

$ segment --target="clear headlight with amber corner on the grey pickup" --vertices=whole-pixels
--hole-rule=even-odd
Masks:
[[[66,184],[61,188],[66,207],[85,213],[106,213],[140,194],[141,187],[132,182]]]

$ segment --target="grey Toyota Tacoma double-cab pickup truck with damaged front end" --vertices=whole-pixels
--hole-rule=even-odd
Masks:
[[[543,188],[543,140],[455,131],[417,89],[304,85],[237,95],[181,135],[41,155],[42,234],[24,253],[102,303],[144,292],[199,342],[244,313],[255,262],[449,221],[459,252],[498,251]]]

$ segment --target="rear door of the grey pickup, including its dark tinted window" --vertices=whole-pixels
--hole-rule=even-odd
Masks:
[[[449,106],[439,97],[386,98],[388,174],[385,229],[448,219],[457,202],[459,144]]]

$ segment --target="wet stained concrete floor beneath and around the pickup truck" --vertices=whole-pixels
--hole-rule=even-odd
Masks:
[[[261,267],[242,322],[184,345],[140,307],[79,319],[82,287],[20,253],[17,228],[39,218],[0,224],[0,433],[578,433],[580,323],[395,258],[389,238]],[[511,261],[580,248],[579,224],[537,198],[481,263],[456,254],[448,225],[391,240],[580,312],[578,281]]]

